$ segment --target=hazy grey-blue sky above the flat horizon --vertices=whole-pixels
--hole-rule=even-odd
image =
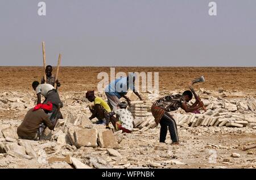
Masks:
[[[0,0],[0,65],[256,66],[256,1]]]

